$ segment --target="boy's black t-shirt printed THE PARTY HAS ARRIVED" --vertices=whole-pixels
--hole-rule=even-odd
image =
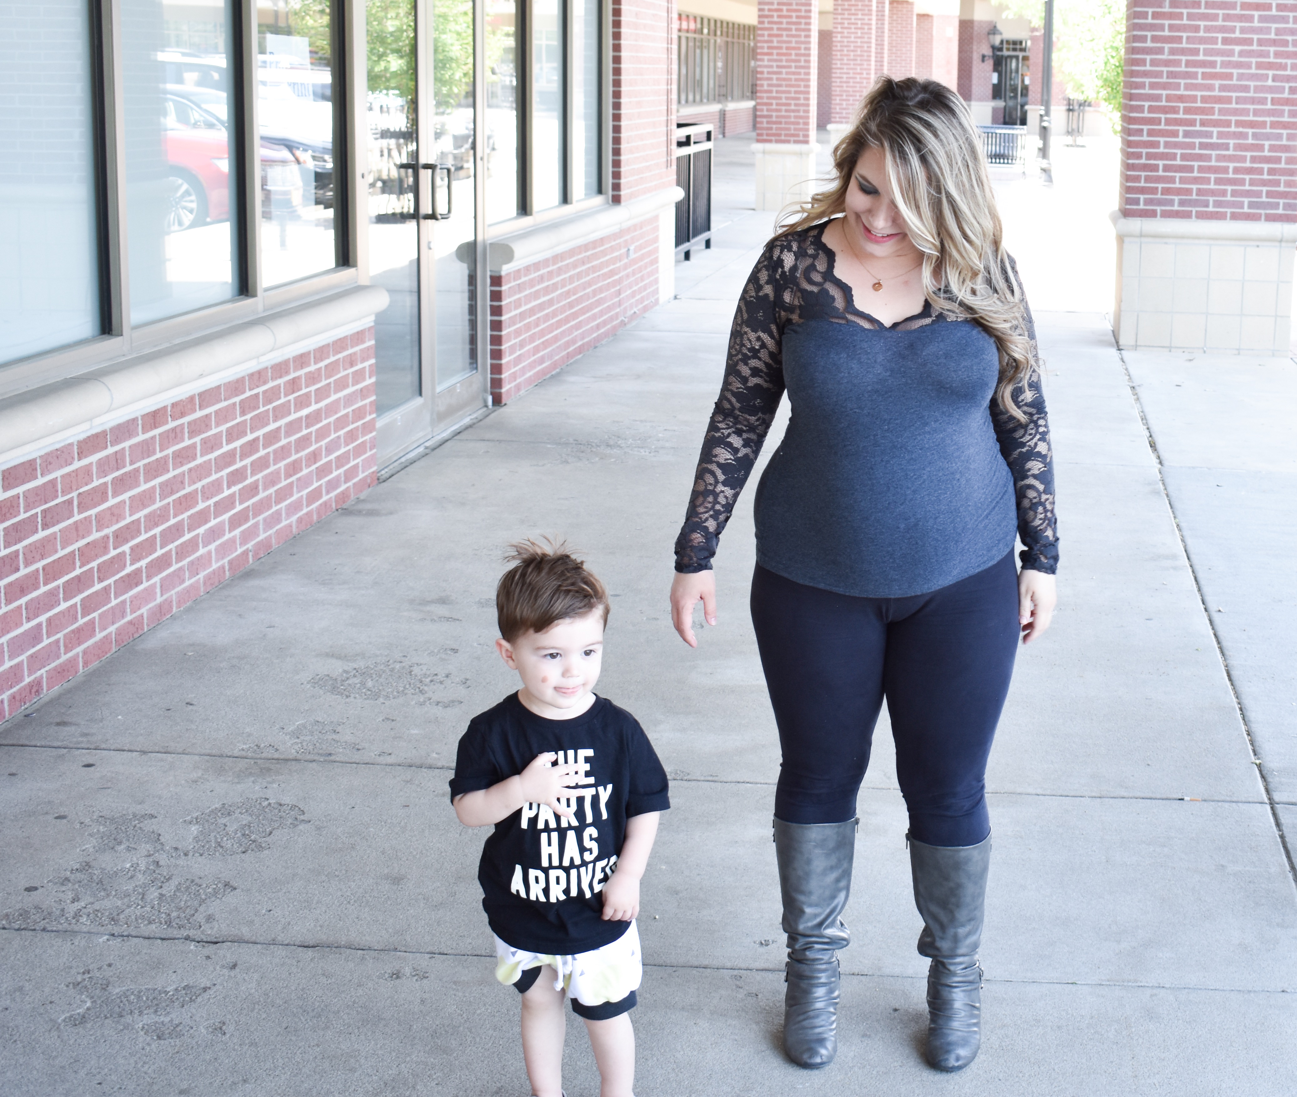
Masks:
[[[603,884],[626,820],[671,807],[667,772],[639,722],[607,698],[572,720],[546,720],[516,694],[475,716],[459,740],[450,797],[490,788],[546,751],[586,766],[569,790],[569,822],[525,804],[495,823],[477,879],[482,909],[502,941],[528,952],[568,956],[617,940],[629,922],[604,922]]]

